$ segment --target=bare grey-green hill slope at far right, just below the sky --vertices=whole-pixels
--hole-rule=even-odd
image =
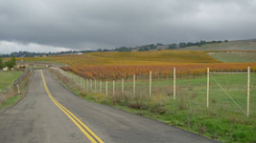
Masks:
[[[211,43],[192,46],[179,51],[256,51],[256,39]]]

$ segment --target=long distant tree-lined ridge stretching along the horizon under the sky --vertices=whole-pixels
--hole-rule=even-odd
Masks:
[[[42,57],[42,56],[58,56],[69,54],[81,54],[89,52],[106,52],[106,51],[256,51],[256,39],[238,40],[238,41],[204,41],[198,42],[180,42],[173,44],[147,44],[136,47],[119,47],[115,49],[98,49],[84,51],[58,51],[58,52],[30,52],[30,51],[13,51],[10,54],[1,54],[2,57]]]

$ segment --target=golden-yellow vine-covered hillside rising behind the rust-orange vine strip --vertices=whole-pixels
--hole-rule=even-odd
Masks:
[[[90,52],[77,55],[18,58],[23,61],[55,61],[68,65],[167,65],[171,63],[219,63],[204,51]]]

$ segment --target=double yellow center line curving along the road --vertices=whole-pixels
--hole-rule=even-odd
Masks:
[[[58,101],[53,97],[52,93],[49,91],[42,71],[41,76],[45,91],[47,92],[50,99],[59,108],[59,110],[64,112],[68,116],[68,118],[70,118],[73,121],[73,123],[81,130],[81,133],[83,133],[92,143],[104,143],[104,141],[95,133],[93,133],[86,125],[84,125],[76,115],[74,115],[72,112],[69,112],[65,107],[58,103]]]

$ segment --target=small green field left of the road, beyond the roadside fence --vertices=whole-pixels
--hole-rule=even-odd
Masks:
[[[18,71],[0,72],[0,90],[6,91],[21,74]]]

